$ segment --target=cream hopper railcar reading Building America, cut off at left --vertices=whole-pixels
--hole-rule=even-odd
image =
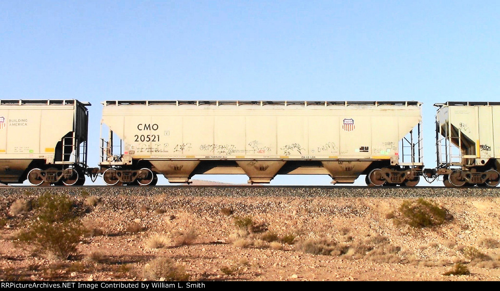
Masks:
[[[0,182],[82,185],[88,102],[0,100]]]

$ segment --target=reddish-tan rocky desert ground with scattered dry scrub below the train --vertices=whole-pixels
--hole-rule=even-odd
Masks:
[[[0,193],[2,280],[500,279],[500,189],[2,187]],[[22,239],[47,219],[41,196],[71,201],[69,220],[50,220],[81,230],[62,255],[56,248],[70,242],[51,237],[56,226],[42,243],[39,233]],[[445,211],[441,224],[408,224],[401,205],[414,206],[420,196]],[[451,270],[465,274],[445,274]]]

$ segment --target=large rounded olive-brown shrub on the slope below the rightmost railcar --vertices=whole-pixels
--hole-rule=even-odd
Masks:
[[[439,207],[431,200],[419,198],[404,200],[398,208],[400,215],[393,221],[396,224],[407,224],[412,227],[431,227],[453,219],[444,207]]]

